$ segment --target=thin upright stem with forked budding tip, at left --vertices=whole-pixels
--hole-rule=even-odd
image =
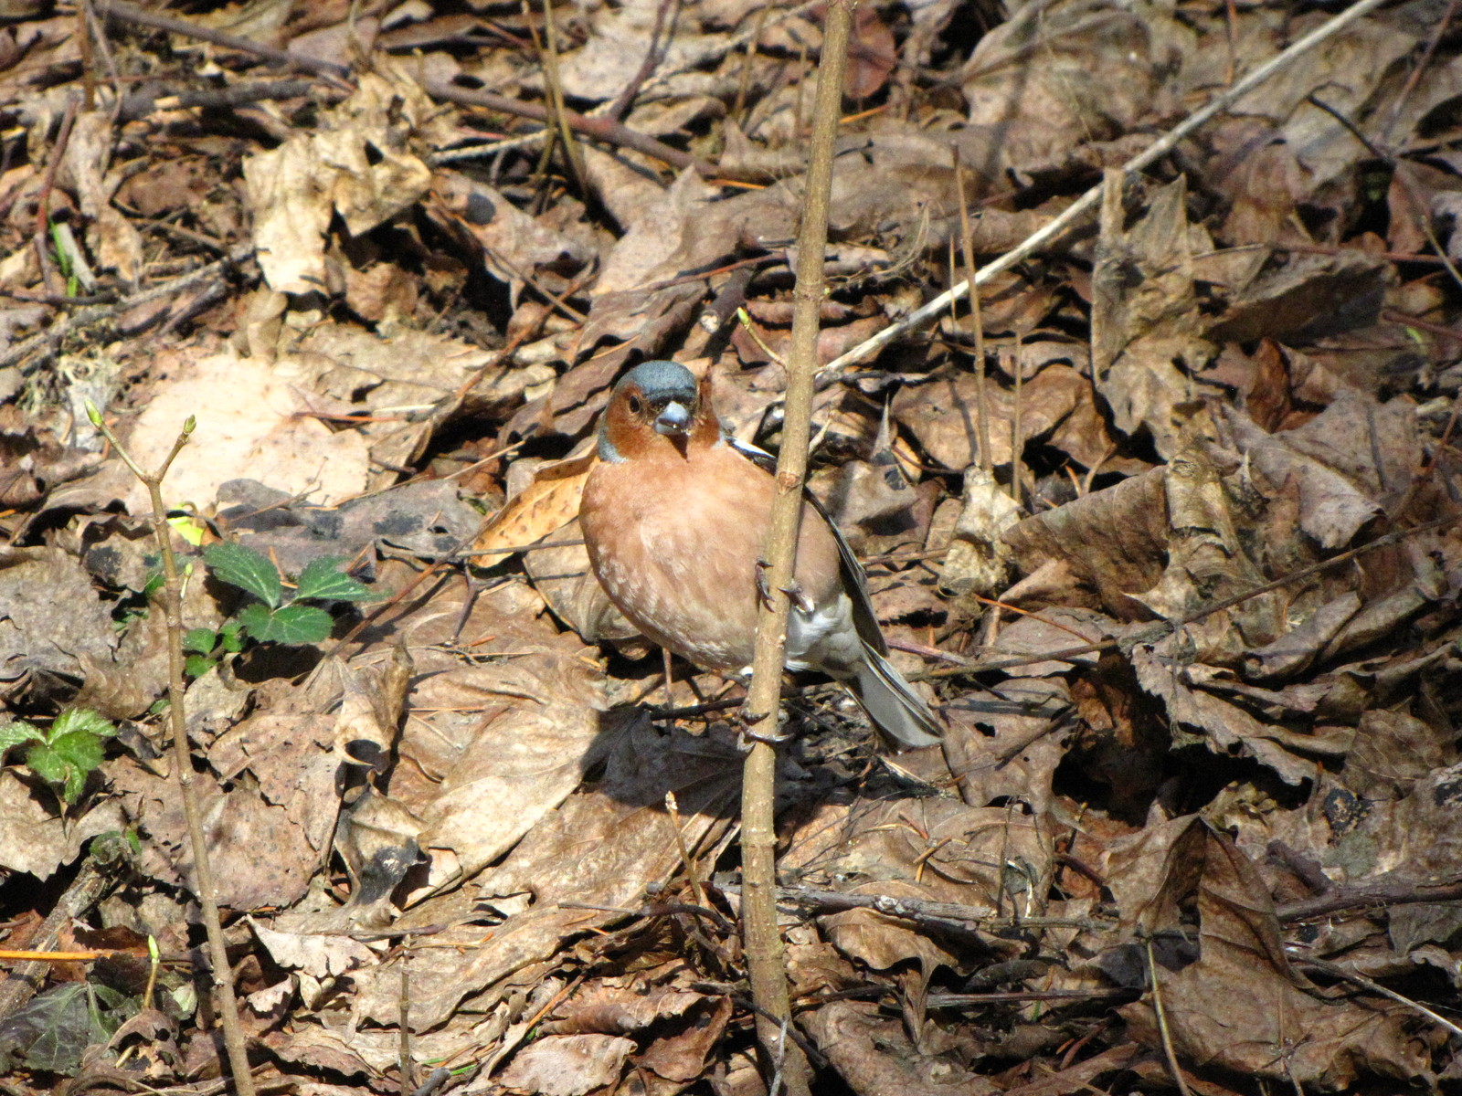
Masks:
[[[162,478],[168,473],[177,454],[183,452],[193,433],[193,419],[183,425],[183,433],[173,443],[173,452],[158,466],[156,472],[145,472],[132,459],[117,435],[102,421],[101,414],[88,406],[88,416],[117,450],[132,473],[148,488],[152,500],[152,535],[162,552],[162,590],[158,599],[168,623],[168,722],[173,728],[173,767],[178,773],[183,799],[183,815],[187,820],[189,843],[193,849],[193,893],[203,910],[203,931],[208,934],[208,962],[213,969],[215,1011],[224,1024],[224,1048],[228,1052],[228,1068],[234,1076],[234,1092],[238,1096],[254,1096],[254,1076],[249,1071],[249,1052],[244,1048],[244,1029],[238,1023],[238,1001],[234,997],[234,972],[228,966],[228,948],[224,944],[224,922],[218,915],[218,891],[213,887],[213,867],[208,858],[208,842],[203,837],[203,814],[193,791],[193,751],[187,741],[187,710],[183,701],[183,577],[173,554],[173,530],[168,528],[168,510],[162,503]]]

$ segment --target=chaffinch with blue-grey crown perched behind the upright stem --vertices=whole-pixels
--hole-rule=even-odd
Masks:
[[[716,418],[711,377],[645,361],[610,393],[579,525],[610,601],[648,639],[702,669],[750,674],[769,454]],[[928,706],[889,662],[852,549],[811,492],[797,541],[785,668],[842,681],[898,747],[940,741]]]

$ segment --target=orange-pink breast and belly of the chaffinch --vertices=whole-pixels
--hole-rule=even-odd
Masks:
[[[772,476],[727,444],[686,456],[664,449],[589,475],[579,514],[589,561],[610,601],[649,639],[699,666],[741,669],[756,642]],[[833,602],[838,545],[810,509],[797,557],[807,598]]]

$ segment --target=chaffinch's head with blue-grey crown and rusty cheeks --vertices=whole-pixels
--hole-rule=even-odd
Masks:
[[[711,376],[699,383],[674,361],[646,361],[620,377],[599,422],[599,459],[610,463],[715,444],[721,422],[711,406]]]

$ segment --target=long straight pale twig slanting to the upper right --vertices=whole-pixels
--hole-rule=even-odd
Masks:
[[[1155,164],[1158,159],[1161,159],[1174,148],[1177,148],[1178,142],[1181,142],[1190,133],[1202,127],[1215,115],[1228,110],[1238,99],[1244,98],[1260,83],[1263,83],[1276,72],[1279,72],[1291,61],[1294,61],[1294,58],[1308,53],[1316,45],[1323,42],[1326,38],[1338,34],[1339,31],[1344,31],[1347,26],[1354,23],[1361,16],[1370,15],[1383,3],[1386,3],[1386,0],[1360,0],[1351,7],[1347,7],[1344,12],[1336,15],[1329,22],[1317,26],[1314,31],[1307,34],[1304,38],[1297,41],[1284,53],[1270,57],[1268,61],[1260,64],[1257,69],[1249,73],[1249,76],[1241,79],[1238,83],[1225,91],[1222,95],[1215,96],[1205,107],[1200,107],[1199,110],[1193,111],[1193,114],[1186,117],[1181,123],[1174,126],[1158,140],[1152,142],[1152,145],[1149,145],[1143,152],[1137,153],[1126,164],[1123,164],[1121,170],[1142,171],[1151,164]],[[980,267],[980,270],[975,272],[974,283],[977,286],[984,285],[996,275],[1004,273],[1018,263],[1022,263],[1026,259],[1029,259],[1032,254],[1035,254],[1045,246],[1058,240],[1061,235],[1066,234],[1069,228],[1076,225],[1096,208],[1096,203],[1101,200],[1101,191],[1102,191],[1102,184],[1096,184],[1085,194],[1082,194],[1076,202],[1073,202],[1060,216],[1054,218],[1053,221],[1048,221],[1045,225],[1042,225],[1035,232],[1028,235],[1020,243],[1019,247],[1006,251],[994,262]],[[925,324],[937,320],[939,316],[942,316],[944,310],[949,308],[950,301],[961,300],[969,292],[969,285],[971,285],[969,281],[961,282],[959,285],[953,286],[952,289],[931,300],[928,304],[914,310],[899,323],[885,327],[882,332],[858,343],[846,354],[827,362],[817,373],[817,386],[822,389],[827,387],[829,384],[835,384],[842,377],[842,374],[848,373],[858,362],[868,361],[895,339],[904,338],[909,332],[918,330]]]

